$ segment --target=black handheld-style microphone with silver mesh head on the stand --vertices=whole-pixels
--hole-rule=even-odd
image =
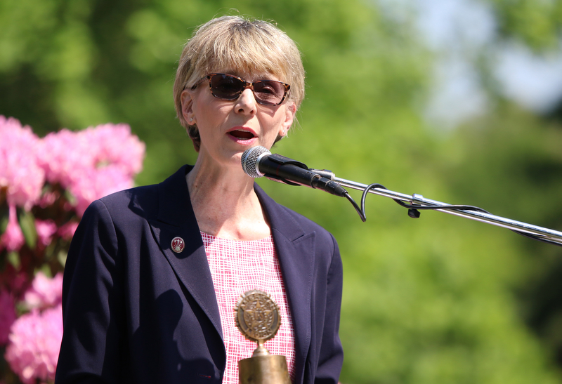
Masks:
[[[242,154],[242,169],[251,178],[266,178],[289,185],[306,185],[344,197],[347,191],[335,181],[311,171],[306,164],[280,154],[271,154],[266,147],[251,147]]]

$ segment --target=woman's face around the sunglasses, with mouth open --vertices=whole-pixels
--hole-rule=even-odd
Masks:
[[[261,76],[237,73],[246,81],[278,80],[272,74]],[[270,148],[277,135],[287,135],[296,112],[294,102],[281,105],[261,105],[250,88],[244,89],[236,100],[222,100],[209,90],[204,80],[195,90],[182,93],[183,117],[188,124],[197,124],[201,147],[197,161],[213,161],[220,165],[240,168],[242,152],[261,145]]]

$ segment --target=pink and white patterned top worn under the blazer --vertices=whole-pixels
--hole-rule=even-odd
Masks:
[[[275,338],[266,341],[264,346],[271,355],[287,357],[289,376],[294,381],[294,329],[273,237],[237,241],[204,232],[201,236],[211,268],[226,347],[223,384],[239,383],[238,361],[251,357],[256,349],[256,343],[238,331],[234,312],[240,295],[252,289],[269,293],[279,306],[281,326]]]

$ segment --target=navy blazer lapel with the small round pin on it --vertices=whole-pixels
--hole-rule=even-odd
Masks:
[[[207,262],[203,241],[195,213],[189,199],[189,191],[185,182],[185,174],[190,171],[183,166],[164,182],[158,185],[158,216],[155,220],[148,220],[152,232],[176,272],[178,279],[189,291],[215,326],[216,331],[223,338],[221,317]],[[171,249],[174,237],[181,237],[185,248],[181,253]]]

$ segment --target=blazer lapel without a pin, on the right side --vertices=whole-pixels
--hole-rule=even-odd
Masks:
[[[273,233],[287,300],[295,332],[295,373],[302,378],[311,345],[311,289],[315,254],[315,232],[306,233],[287,213],[285,207],[256,184],[254,190],[266,211]],[[301,380],[301,379],[300,379]]]

